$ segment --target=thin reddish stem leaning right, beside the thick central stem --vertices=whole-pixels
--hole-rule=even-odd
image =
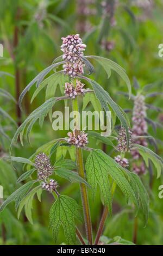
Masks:
[[[115,188],[116,188],[116,182],[113,181],[112,187],[111,187],[111,196],[114,195]],[[98,231],[97,231],[95,245],[98,245],[99,238],[101,237],[107,215],[108,215],[108,206],[105,206],[105,209],[104,209],[103,214],[102,214],[101,222],[99,224],[99,228],[98,228]]]

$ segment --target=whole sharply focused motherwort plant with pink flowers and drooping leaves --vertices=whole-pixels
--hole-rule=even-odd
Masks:
[[[86,45],[83,44],[82,39],[79,38],[78,34],[68,35],[65,38],[62,38],[61,50],[63,55],[55,59],[52,65],[48,66],[48,68],[41,71],[40,74],[37,75],[23,90],[19,99],[21,109],[24,95],[35,83],[36,90],[33,94],[32,101],[40,90],[45,87],[46,100],[27,117],[20,127],[18,127],[11,142],[9,158],[11,161],[25,163],[25,167],[27,168],[27,172],[23,173],[17,182],[21,182],[29,178],[29,176],[33,176],[35,171],[37,171],[37,179],[30,180],[18,188],[17,191],[12,193],[11,196],[4,201],[0,208],[2,211],[12,200],[15,200],[15,209],[18,210],[18,216],[20,216],[20,212],[24,206],[27,218],[32,222],[31,209],[34,194],[36,193],[39,200],[41,200],[42,189],[52,193],[55,202],[49,212],[49,227],[52,228],[54,241],[57,241],[59,228],[60,225],[62,225],[68,245],[77,243],[77,237],[83,245],[92,245],[93,243],[97,245],[99,243],[105,218],[108,212],[112,215],[112,198],[116,186],[120,188],[124,197],[126,197],[127,202],[135,205],[136,214],[137,211],[141,209],[145,216],[145,223],[147,223],[148,220],[147,192],[145,187],[143,187],[139,176],[126,169],[129,163],[124,157],[124,154],[128,153],[133,147],[139,152],[147,151],[147,155],[153,153],[142,145],[133,143],[132,132],[129,128],[130,124],[126,113],[124,113],[123,109],[112,100],[109,93],[106,92],[100,84],[85,76],[85,71],[88,70],[89,75],[92,74],[94,68],[89,59],[96,60],[103,66],[108,77],[111,75],[111,69],[116,71],[123,81],[126,82],[129,95],[131,95],[129,78],[124,69],[110,59],[99,56],[84,56],[85,48]],[[56,70],[59,65],[62,65],[63,70]],[[43,80],[51,70],[53,70],[54,73]],[[83,81],[86,84],[89,83],[92,86],[92,90],[85,89]],[[61,96],[55,97],[55,90],[58,84],[61,90]],[[106,113],[109,109],[111,110],[112,117],[114,117],[114,119],[117,117],[121,123],[122,128],[118,137],[112,135],[104,137],[97,132],[80,130],[79,97],[83,97],[84,105],[86,105],[87,101],[92,102],[93,97],[93,102],[96,102],[93,107],[96,108],[98,105],[101,109],[104,109]],[[60,100],[66,102],[68,100],[71,103],[74,116],[76,117],[73,132],[68,132],[68,137],[66,138],[53,139],[53,141],[48,142],[46,145],[42,145],[30,159],[11,156],[12,145],[16,143],[18,136],[20,136],[20,141],[23,145],[23,135],[27,128],[27,141],[30,142],[29,134],[36,120],[39,119],[40,126],[42,126],[47,114],[49,115],[49,119],[52,120],[52,108],[55,105],[55,102]],[[111,131],[113,135],[115,134],[114,123],[112,118]],[[100,149],[89,148],[89,137],[94,137],[96,140],[109,144],[116,150],[118,155],[115,160]],[[117,145],[113,143],[115,139],[117,140]],[[58,152],[60,148],[68,150],[71,157],[73,155],[72,152],[75,153],[76,161],[74,162],[70,159],[64,159],[63,156],[59,157],[57,154],[57,159],[52,166],[51,160],[53,154],[55,150]],[[89,154],[85,164],[83,162],[83,150],[86,150]],[[162,162],[158,161],[157,155],[153,155],[153,160],[157,162],[160,168],[162,167]],[[72,181],[73,179],[80,182],[82,208],[74,199],[60,193],[57,175],[69,181]],[[93,200],[96,196],[97,185],[102,194],[101,198],[102,203],[105,205],[105,210],[102,216],[102,221],[99,223],[96,239],[93,241],[90,216],[91,209],[89,207],[87,190],[91,193]],[[32,187],[34,188],[31,190]],[[84,220],[78,210],[83,210]],[[84,234],[84,239],[77,228],[76,221],[83,221],[85,224],[86,232]]]

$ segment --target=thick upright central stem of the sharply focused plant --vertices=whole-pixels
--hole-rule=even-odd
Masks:
[[[73,85],[76,87],[76,80],[73,80]],[[80,117],[79,117],[79,109],[78,109],[78,98],[72,100],[72,107],[73,111],[76,115],[76,135],[78,136],[80,133]],[[76,160],[78,166],[78,173],[79,176],[85,179],[84,174],[84,166],[83,166],[83,155],[82,149],[76,147]],[[91,216],[90,216],[90,209],[89,209],[89,201],[87,197],[87,190],[86,185],[84,183],[80,183],[80,191],[82,194],[82,202],[83,202],[83,210],[84,210],[84,217],[85,217],[85,229],[87,234],[87,240],[89,241],[90,245],[92,245],[92,225],[91,225]]]

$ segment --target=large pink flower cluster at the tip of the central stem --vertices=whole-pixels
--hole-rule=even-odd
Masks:
[[[61,51],[64,52],[62,58],[66,61],[63,66],[65,74],[71,77],[83,74],[85,65],[80,57],[84,55],[86,45],[79,38],[79,34],[68,35],[61,39],[63,40]]]

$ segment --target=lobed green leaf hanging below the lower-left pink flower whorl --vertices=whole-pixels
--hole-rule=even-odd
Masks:
[[[38,191],[42,191],[42,188],[40,186],[35,187],[32,191],[30,191],[26,197],[23,198],[22,202],[20,203],[19,207],[18,207],[18,212],[17,212],[17,217],[20,217],[21,211],[23,209],[25,209],[25,214],[28,218],[28,221],[33,224],[33,220],[32,220],[32,209],[33,209],[33,199],[35,196],[35,193],[37,193]]]

